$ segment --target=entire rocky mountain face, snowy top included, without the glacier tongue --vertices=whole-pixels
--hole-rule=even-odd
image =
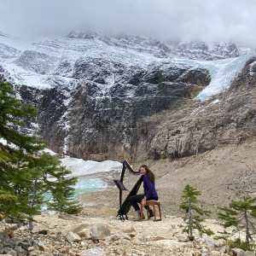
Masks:
[[[247,62],[229,90],[200,102],[195,96],[210,84],[211,74],[199,62],[180,59],[237,57],[235,44],[171,45],[71,33],[25,50],[0,46],[1,79],[38,108],[29,128],[60,154],[85,160],[173,158],[253,136],[255,108],[248,99],[254,101],[254,62]]]

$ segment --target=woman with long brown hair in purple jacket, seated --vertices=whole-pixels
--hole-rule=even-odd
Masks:
[[[137,211],[138,216],[136,220],[141,220],[141,208],[138,203],[142,203],[143,207],[146,206],[147,200],[158,200],[158,195],[154,187],[154,173],[148,169],[148,166],[140,166],[140,172],[143,175],[143,188],[144,194],[141,195],[131,195],[129,201],[131,206]],[[153,217],[154,213],[152,209],[149,209],[149,218]],[[143,215],[143,218],[144,215]]]

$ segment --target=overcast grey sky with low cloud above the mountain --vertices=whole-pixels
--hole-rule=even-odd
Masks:
[[[0,0],[0,32],[78,29],[256,45],[256,0]]]

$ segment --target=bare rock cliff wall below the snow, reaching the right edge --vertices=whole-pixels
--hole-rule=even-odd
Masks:
[[[143,73],[138,84],[21,86],[20,95],[38,107],[38,135],[49,148],[86,160],[173,159],[255,136],[254,58],[230,89],[206,102],[194,98],[210,82],[207,70],[174,70],[180,74],[173,80],[159,69]]]

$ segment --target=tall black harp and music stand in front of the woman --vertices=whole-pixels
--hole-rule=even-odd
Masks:
[[[137,183],[131,189],[131,192],[129,193],[129,195],[127,195],[127,197],[125,198],[125,201],[122,202],[123,190],[128,190],[128,189],[125,189],[125,185],[123,184],[126,169],[128,169],[128,171],[131,172],[133,175],[140,174],[139,171],[138,172],[133,171],[133,169],[129,165],[128,161],[124,160],[123,170],[121,173],[120,180],[116,180],[116,179],[113,180],[113,182],[116,184],[116,186],[119,189],[119,211],[118,211],[117,216],[119,216],[120,219],[122,219],[122,220],[124,220],[125,218],[128,219],[127,213],[130,211],[130,208],[131,208],[131,203],[129,201],[129,197],[131,195],[137,195],[137,191],[138,191],[138,189],[140,189],[140,186],[143,183],[143,176],[141,176],[141,177],[139,177]]]

